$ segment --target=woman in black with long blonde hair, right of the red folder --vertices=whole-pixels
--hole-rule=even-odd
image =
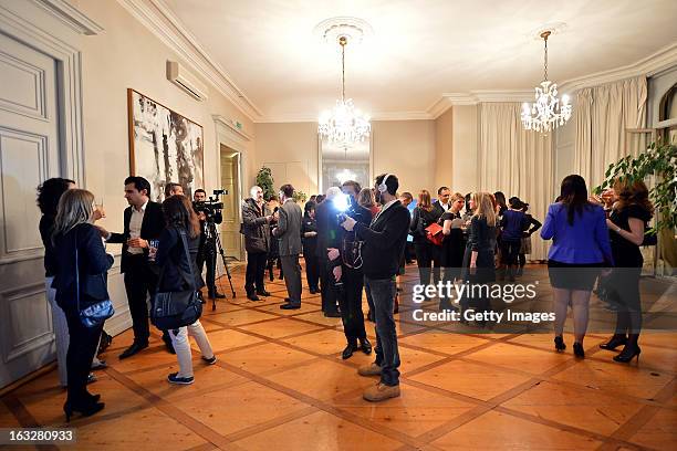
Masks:
[[[497,214],[489,192],[473,192],[470,197],[472,218],[468,228],[468,243],[464,256],[466,280],[471,284],[487,284],[496,281],[493,250],[496,249]],[[478,292],[483,293],[485,290]],[[477,312],[488,312],[491,303],[488,297],[473,300]],[[461,310],[467,310],[469,302],[461,300]],[[486,324],[479,322],[480,326]]]

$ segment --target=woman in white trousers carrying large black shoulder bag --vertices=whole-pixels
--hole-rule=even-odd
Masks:
[[[185,196],[171,196],[165,199],[163,212],[167,226],[159,237],[159,243],[155,251],[155,261],[160,270],[157,291],[163,293],[198,291],[205,286],[196,263],[200,241],[198,217]],[[186,244],[188,252],[186,252]],[[192,277],[192,280],[188,281],[189,277]],[[188,335],[195,337],[202,353],[202,360],[207,365],[213,365],[217,358],[207,338],[207,333],[199,319],[188,326],[169,329],[168,332],[176,350],[179,371],[171,373],[167,376],[167,380],[177,385],[192,384],[195,378]]]

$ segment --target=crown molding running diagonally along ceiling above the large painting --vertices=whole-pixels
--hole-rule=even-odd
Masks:
[[[260,109],[237,86],[226,70],[197,42],[197,39],[163,0],[117,1],[250,120],[261,117]]]

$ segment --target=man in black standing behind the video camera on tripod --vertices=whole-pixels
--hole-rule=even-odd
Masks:
[[[200,220],[200,244],[197,254],[197,268],[200,274],[207,263],[207,292],[211,298],[226,297],[216,289],[216,224],[223,221],[221,210],[213,208],[212,202],[207,202],[207,192],[199,188],[192,195],[192,209]],[[218,207],[218,204],[216,206]]]

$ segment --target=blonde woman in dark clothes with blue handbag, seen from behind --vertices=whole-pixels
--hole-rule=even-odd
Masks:
[[[69,324],[69,387],[63,406],[66,421],[75,411],[88,417],[104,408],[98,402],[100,396],[86,389],[103,324],[85,326],[80,317],[87,306],[108,298],[106,272],[113,265],[113,256],[106,254],[93,221],[94,195],[84,189],[70,189],[61,196],[52,239],[56,258],[52,286],[56,289],[56,303]]]

